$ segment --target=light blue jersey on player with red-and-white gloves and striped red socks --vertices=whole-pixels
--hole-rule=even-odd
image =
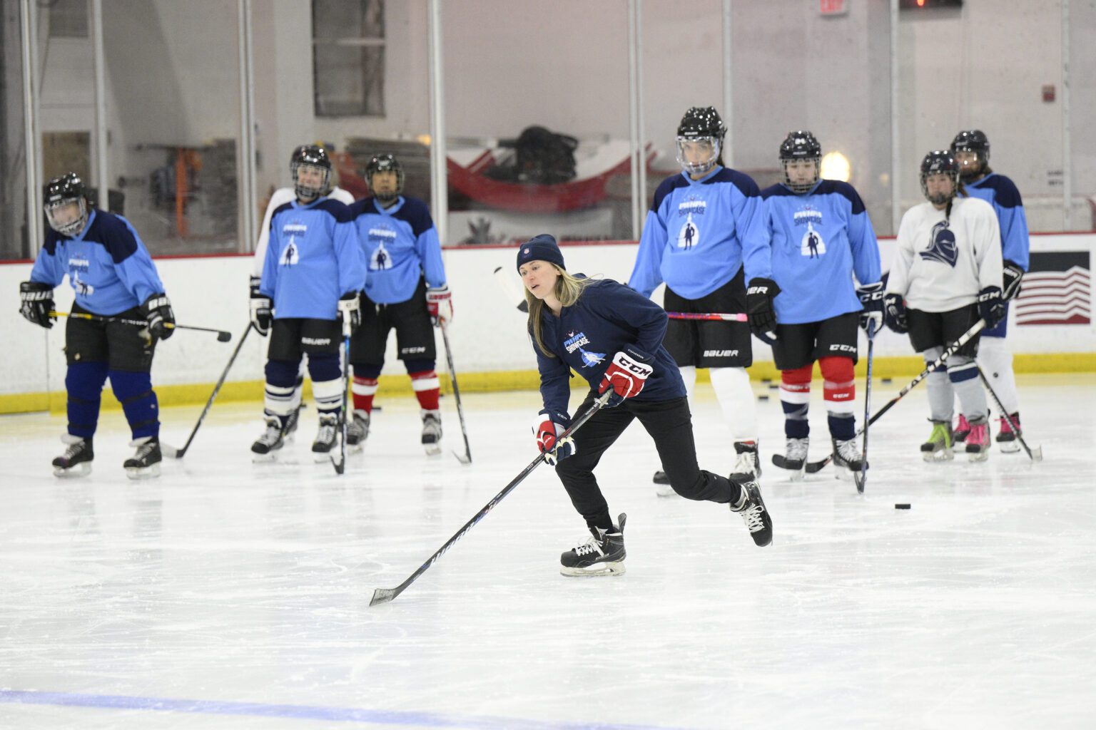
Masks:
[[[406,302],[423,276],[431,287],[445,283],[442,245],[425,202],[400,197],[396,205],[384,208],[369,197],[350,210],[365,253],[365,293],[372,301]]]

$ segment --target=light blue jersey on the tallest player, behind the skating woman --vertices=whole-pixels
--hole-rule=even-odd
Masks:
[[[685,299],[719,289],[745,265],[746,282],[770,278],[761,193],[749,175],[716,166],[684,172],[654,193],[628,286],[650,297],[661,282]]]

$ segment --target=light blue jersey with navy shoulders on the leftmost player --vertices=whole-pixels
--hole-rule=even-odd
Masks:
[[[76,303],[103,316],[163,292],[156,264],[137,231],[125,218],[106,210],[92,210],[88,224],[75,236],[49,229],[31,280],[56,287],[66,274]]]

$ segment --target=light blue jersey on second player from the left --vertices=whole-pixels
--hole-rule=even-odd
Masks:
[[[275,320],[336,320],[339,298],[361,291],[364,280],[365,258],[344,204],[293,201],[271,216],[259,291],[274,300]]]

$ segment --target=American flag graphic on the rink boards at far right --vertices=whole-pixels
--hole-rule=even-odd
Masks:
[[[1089,324],[1092,289],[1087,251],[1031,254],[1016,306],[1016,324]]]

